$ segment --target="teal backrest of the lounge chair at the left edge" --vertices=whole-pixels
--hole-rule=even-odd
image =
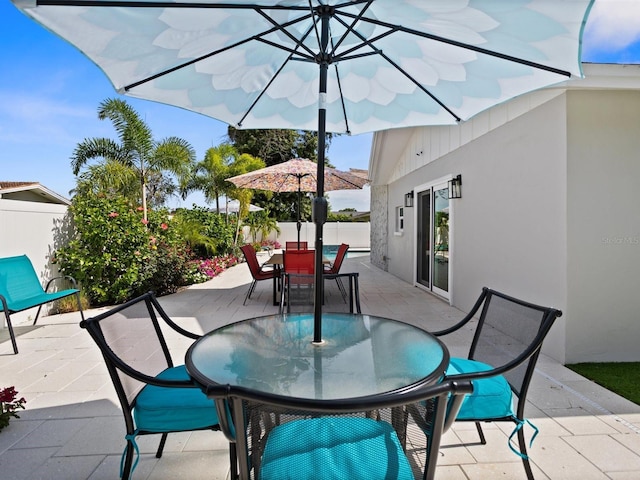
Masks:
[[[9,309],[13,302],[43,293],[44,289],[29,257],[18,255],[0,258],[0,295],[7,300]]]

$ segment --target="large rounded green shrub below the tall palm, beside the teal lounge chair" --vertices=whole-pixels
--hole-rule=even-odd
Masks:
[[[145,225],[141,208],[104,195],[76,195],[70,211],[75,234],[56,253],[56,261],[61,272],[80,283],[92,305],[122,303],[152,286],[161,295],[176,277],[160,278],[168,271],[184,272],[187,260],[174,253],[182,242],[167,212],[149,212]]]

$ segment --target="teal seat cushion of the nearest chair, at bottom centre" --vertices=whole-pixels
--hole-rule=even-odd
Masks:
[[[274,428],[260,480],[413,480],[393,427],[369,418],[321,417]]]

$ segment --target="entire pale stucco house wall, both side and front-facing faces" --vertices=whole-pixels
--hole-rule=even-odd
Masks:
[[[467,311],[486,285],[563,310],[544,346],[561,362],[640,360],[640,75],[619,67],[585,66],[595,80],[459,126],[377,133],[370,174],[372,196],[387,188],[388,271],[414,283],[414,209],[394,232],[404,194],[461,174],[450,303]],[[611,83],[612,73],[624,78]]]

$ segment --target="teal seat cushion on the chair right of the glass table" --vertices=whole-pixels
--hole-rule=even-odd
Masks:
[[[491,370],[486,363],[466,358],[451,358],[447,375],[473,373]],[[462,402],[457,420],[482,420],[515,417],[513,413],[513,392],[509,382],[502,375],[473,381],[473,393]]]

